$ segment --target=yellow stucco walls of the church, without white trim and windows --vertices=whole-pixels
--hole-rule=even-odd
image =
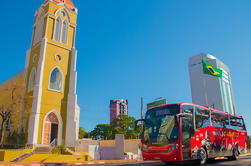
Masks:
[[[76,21],[77,14],[66,8],[64,5],[56,5],[52,2],[43,4],[41,6],[43,9],[43,33],[42,38],[47,38],[47,44],[45,48],[45,63],[44,63],[44,73],[42,81],[42,96],[41,96],[41,108],[40,108],[40,118],[39,118],[39,130],[38,130],[38,144],[42,143],[42,129],[43,120],[45,115],[51,111],[56,110],[62,117],[63,129],[62,129],[62,141],[65,139],[66,131],[66,116],[67,116],[67,100],[69,91],[69,77],[70,77],[70,67],[71,67],[71,54],[72,48],[74,47],[75,31],[76,31]],[[68,42],[66,44],[60,43],[53,40],[54,35],[54,24],[55,19],[59,15],[59,10],[63,9],[67,14],[68,20]],[[42,10],[41,10],[42,11]],[[38,11],[35,16],[35,21],[38,18]],[[36,32],[36,24],[33,27],[33,34]],[[42,41],[42,40],[41,40]],[[32,37],[32,44],[29,54],[28,67],[27,70],[19,73],[18,75],[10,78],[6,82],[0,84],[0,105],[9,104],[10,94],[13,88],[15,90],[15,96],[20,96],[21,101],[14,108],[14,113],[12,114],[13,127],[11,132],[17,131],[18,126],[22,126],[25,129],[26,136],[28,136],[29,129],[29,118],[32,111],[32,104],[34,100],[34,90],[28,91],[29,79],[32,71],[35,69],[36,74],[39,67],[39,58],[41,54],[42,42],[34,44],[34,35]],[[55,60],[55,55],[59,54],[62,57],[61,61]],[[52,70],[58,67],[63,75],[63,90],[62,92],[56,92],[49,89],[50,75]],[[26,80],[25,80],[26,73]],[[25,84],[26,83],[26,84]],[[22,109],[23,108],[23,109]],[[21,124],[20,124],[21,123]],[[64,141],[63,141],[64,143]],[[8,144],[6,142],[6,144]]]

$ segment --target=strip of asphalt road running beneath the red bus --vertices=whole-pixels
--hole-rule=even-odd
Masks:
[[[128,162],[128,163],[107,163],[107,164],[95,164],[97,166],[195,166],[195,163],[174,163],[174,164],[165,164],[164,162]],[[213,162],[206,164],[206,166],[221,166],[221,165],[241,165],[241,166],[251,166],[251,154],[246,156],[240,156],[239,160],[229,161],[228,159],[217,159]],[[85,165],[83,165],[85,166]],[[87,165],[86,165],[87,166]]]

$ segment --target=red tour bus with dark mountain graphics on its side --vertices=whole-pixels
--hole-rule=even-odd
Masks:
[[[174,103],[147,110],[141,149],[144,160],[199,161],[216,157],[238,159],[248,152],[248,136],[241,116],[191,103]]]

